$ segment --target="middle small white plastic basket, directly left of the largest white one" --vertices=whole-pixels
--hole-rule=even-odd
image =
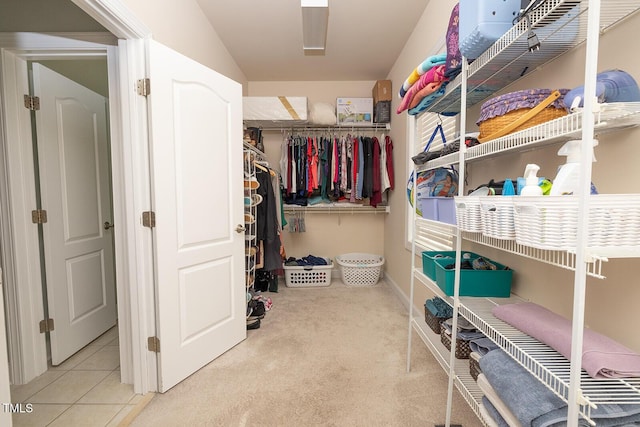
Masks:
[[[482,234],[502,240],[514,240],[516,230],[513,216],[515,196],[482,196],[480,214]]]

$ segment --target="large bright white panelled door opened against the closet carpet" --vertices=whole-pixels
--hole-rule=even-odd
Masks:
[[[164,392],[246,338],[242,88],[156,42],[148,52]]]

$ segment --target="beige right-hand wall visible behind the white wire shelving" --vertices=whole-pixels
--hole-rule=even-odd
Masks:
[[[392,69],[390,78],[394,90],[406,78],[410,70],[431,54],[429,49],[441,40],[446,31],[448,15],[455,2],[429,4],[419,26],[414,30],[411,40],[401,52]],[[443,9],[447,9],[447,13]],[[631,73],[640,80],[640,62],[629,54],[629,42],[637,39],[637,28],[640,26],[640,15],[636,14],[618,27],[605,33],[600,40],[600,71],[620,68]],[[512,92],[528,88],[573,88],[581,85],[584,79],[584,47],[576,49],[557,58],[550,64],[536,70],[530,76],[506,88],[503,92]],[[395,101],[397,102],[397,101]],[[474,130],[479,114],[479,105],[467,112],[467,130]],[[397,121],[397,120],[396,120]],[[393,126],[394,138],[402,137],[402,126]],[[640,130],[632,129],[599,137],[600,145],[596,148],[597,163],[593,165],[593,181],[600,193],[637,193],[640,171],[637,159],[640,158]],[[400,145],[400,144],[397,144]],[[521,176],[527,163],[541,166],[540,175],[553,178],[556,168],[564,163],[556,151],[560,144],[545,149],[504,155],[469,166],[469,182],[467,188],[487,182],[489,179],[502,180],[506,177]],[[398,147],[398,152],[401,148]],[[398,161],[399,175],[405,163]],[[392,214],[389,215],[385,229],[385,256],[388,260],[387,276],[397,283],[408,295],[410,280],[411,256],[404,248],[402,236],[397,232],[402,226],[404,217],[399,215],[401,206],[406,203],[400,192],[392,198]],[[519,296],[539,303],[549,309],[570,318],[573,304],[574,274],[561,268],[529,260],[520,256],[487,248],[482,245],[466,245],[467,249],[480,252],[515,270],[513,292]],[[610,260],[604,263],[604,280],[587,279],[586,324],[611,338],[640,351],[640,334],[633,325],[640,323],[640,311],[637,301],[640,300],[638,286],[638,263],[633,259]],[[421,287],[418,287],[421,288]],[[427,295],[428,296],[428,295]],[[421,291],[414,304],[421,308],[425,294]]]

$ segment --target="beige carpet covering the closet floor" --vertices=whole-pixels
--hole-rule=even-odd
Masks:
[[[433,426],[447,376],[390,285],[286,288],[260,329],[164,394],[131,426]],[[452,423],[481,426],[456,392]]]

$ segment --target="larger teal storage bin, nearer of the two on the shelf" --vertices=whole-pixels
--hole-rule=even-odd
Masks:
[[[507,298],[511,295],[511,279],[513,270],[490,260],[498,270],[460,270],[460,293],[466,297],[499,297]],[[444,267],[451,264],[451,260],[434,259],[436,270],[436,283],[445,295],[453,296],[455,270],[447,270]]]

